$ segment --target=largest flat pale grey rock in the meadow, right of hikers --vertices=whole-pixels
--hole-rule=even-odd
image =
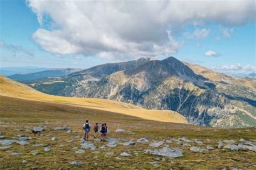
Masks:
[[[182,150],[180,150],[179,148],[172,149],[169,147],[163,147],[160,150],[145,150],[145,152],[149,154],[161,155],[170,158],[177,158],[183,156]]]

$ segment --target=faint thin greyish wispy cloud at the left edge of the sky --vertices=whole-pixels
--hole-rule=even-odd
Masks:
[[[12,56],[16,56],[18,54],[25,55],[25,56],[34,56],[34,53],[30,49],[26,49],[22,46],[6,44],[4,41],[0,41],[0,47],[5,48],[7,51],[12,53]]]

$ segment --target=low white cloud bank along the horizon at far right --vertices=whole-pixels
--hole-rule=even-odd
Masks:
[[[240,63],[235,63],[233,65],[223,65],[218,67],[213,67],[214,70],[226,74],[250,74],[256,73],[255,65],[244,65]]]

